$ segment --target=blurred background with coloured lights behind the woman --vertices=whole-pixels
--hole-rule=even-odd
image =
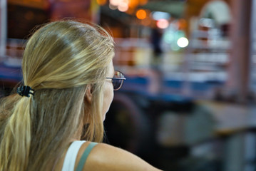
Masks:
[[[105,142],[162,170],[256,170],[256,0],[0,0],[0,97],[36,26],[100,24],[116,41]]]

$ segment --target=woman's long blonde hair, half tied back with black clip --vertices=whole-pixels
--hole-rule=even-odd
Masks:
[[[83,139],[101,142],[103,86],[113,56],[113,39],[99,26],[55,21],[31,36],[22,71],[35,93],[1,100],[1,171],[53,168],[83,117]],[[85,103],[87,85],[91,105]]]

